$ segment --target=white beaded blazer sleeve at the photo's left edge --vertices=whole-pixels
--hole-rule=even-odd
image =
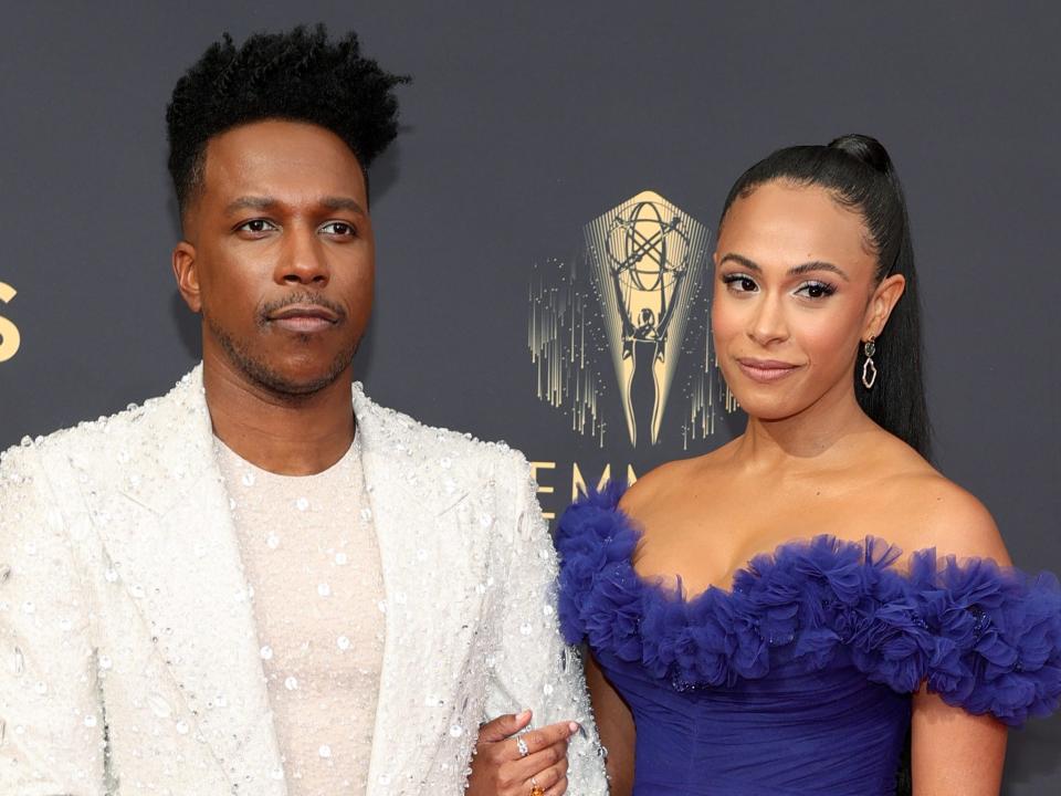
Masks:
[[[91,609],[32,446],[0,459],[0,793],[104,793]]]

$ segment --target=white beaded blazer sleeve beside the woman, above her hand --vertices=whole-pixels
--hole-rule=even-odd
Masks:
[[[593,724],[578,651],[564,643],[557,620],[557,559],[548,525],[522,455],[498,473],[498,531],[511,543],[500,551],[507,573],[501,609],[501,651],[486,699],[489,718],[534,711],[532,727],[576,721],[568,744],[571,796],[608,793],[603,756]]]

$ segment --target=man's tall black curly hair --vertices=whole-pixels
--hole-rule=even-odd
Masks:
[[[169,174],[181,212],[202,187],[209,139],[251,122],[324,127],[367,170],[398,134],[392,90],[408,82],[364,57],[354,32],[333,43],[325,25],[298,25],[252,35],[239,48],[224,33],[177,81],[166,109]]]

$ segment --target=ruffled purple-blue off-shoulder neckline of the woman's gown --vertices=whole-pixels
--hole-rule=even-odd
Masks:
[[[950,704],[1010,724],[1061,701],[1061,586],[987,558],[937,557],[866,537],[820,535],[754,556],[726,589],[685,596],[642,577],[641,538],[610,483],[558,523],[560,621],[677,690],[769,675],[779,657],[806,670],[850,661],[910,693],[923,682]]]

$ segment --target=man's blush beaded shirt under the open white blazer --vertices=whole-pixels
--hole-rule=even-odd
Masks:
[[[290,796],[364,794],[384,654],[379,547],[360,441],[276,475],[220,441]]]

